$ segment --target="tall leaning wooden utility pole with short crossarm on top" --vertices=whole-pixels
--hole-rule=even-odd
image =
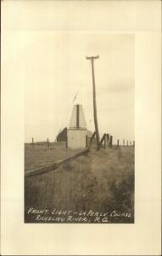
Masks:
[[[91,60],[92,63],[92,95],[93,95],[93,115],[94,115],[94,125],[96,131],[96,141],[97,141],[97,150],[99,149],[99,131],[98,131],[98,117],[97,117],[97,104],[96,104],[96,86],[94,78],[94,60],[98,59],[99,56],[86,57],[87,60]]]

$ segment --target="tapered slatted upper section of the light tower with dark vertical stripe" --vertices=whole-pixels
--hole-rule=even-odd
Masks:
[[[87,129],[86,119],[82,105],[76,104],[73,107],[70,117],[70,129]]]

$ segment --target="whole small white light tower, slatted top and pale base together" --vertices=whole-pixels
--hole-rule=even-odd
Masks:
[[[67,131],[68,148],[86,148],[87,125],[82,106],[74,106]]]

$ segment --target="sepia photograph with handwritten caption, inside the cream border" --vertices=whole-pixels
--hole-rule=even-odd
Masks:
[[[134,35],[28,40],[25,222],[134,223]]]

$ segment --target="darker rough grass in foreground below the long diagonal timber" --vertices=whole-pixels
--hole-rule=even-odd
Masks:
[[[25,177],[25,222],[37,222],[37,215],[29,213],[30,208],[47,209],[50,214],[53,209],[68,210],[73,216],[73,212],[77,216],[84,212],[85,223],[95,223],[94,216],[88,215],[91,210],[108,212],[108,223],[133,223],[134,148],[92,149],[53,172]],[[67,218],[62,221],[68,222]],[[72,220],[75,222],[78,219]],[[103,218],[98,218],[97,223],[103,223]]]

